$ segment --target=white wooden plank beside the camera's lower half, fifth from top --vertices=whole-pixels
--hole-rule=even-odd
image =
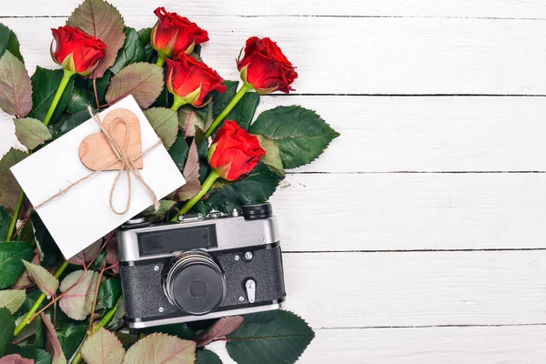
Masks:
[[[305,253],[283,260],[287,309],[314,329],[546,322],[546,251]]]

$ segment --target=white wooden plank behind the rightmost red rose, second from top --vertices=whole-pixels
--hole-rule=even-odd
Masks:
[[[4,19],[23,45],[26,66],[55,66],[50,27],[64,18]],[[200,16],[211,41],[203,56],[227,79],[250,35],[277,39],[298,66],[300,94],[546,94],[543,21],[468,18]],[[153,16],[126,16],[151,26]],[[529,36],[533,35],[533,36]],[[350,55],[350,56],[347,56]]]

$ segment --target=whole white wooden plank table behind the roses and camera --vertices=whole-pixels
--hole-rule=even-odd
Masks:
[[[2,5],[31,73],[78,3]],[[249,35],[272,37],[298,91],[260,108],[341,133],[272,198],[288,308],[317,332],[299,363],[545,362],[543,0],[112,3],[136,28],[158,5],[187,15],[227,79]],[[0,155],[14,144],[1,120]]]

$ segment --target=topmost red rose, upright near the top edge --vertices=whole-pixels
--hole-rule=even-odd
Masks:
[[[150,42],[161,56],[176,56],[181,52],[189,54],[196,45],[207,42],[207,31],[187,17],[169,13],[165,7],[158,7],[154,14],[159,19],[152,29]]]

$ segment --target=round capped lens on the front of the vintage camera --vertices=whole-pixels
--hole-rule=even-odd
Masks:
[[[204,315],[222,303],[226,278],[207,253],[190,251],[172,262],[164,288],[174,306],[191,315]]]

